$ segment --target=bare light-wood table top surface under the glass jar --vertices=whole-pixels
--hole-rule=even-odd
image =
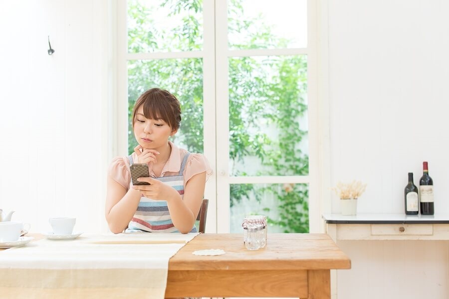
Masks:
[[[32,242],[44,238],[41,234],[27,236],[35,238]],[[226,253],[220,256],[192,254],[204,249],[223,249]],[[350,268],[350,259],[327,234],[268,234],[267,245],[255,251],[244,247],[242,234],[200,234],[169,261],[169,271]]]

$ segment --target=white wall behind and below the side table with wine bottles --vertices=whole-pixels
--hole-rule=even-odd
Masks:
[[[362,180],[358,213],[403,213],[422,161],[449,212],[449,2],[328,1],[331,184]],[[332,197],[338,213],[338,198]],[[449,298],[448,242],[340,242],[339,298]]]

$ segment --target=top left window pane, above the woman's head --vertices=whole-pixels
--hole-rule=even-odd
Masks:
[[[128,51],[203,49],[203,0],[128,0]]]

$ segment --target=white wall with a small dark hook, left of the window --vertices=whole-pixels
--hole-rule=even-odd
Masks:
[[[0,208],[104,231],[108,1],[1,1],[0,32]]]

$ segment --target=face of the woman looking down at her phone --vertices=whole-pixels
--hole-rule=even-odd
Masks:
[[[143,113],[143,105],[137,109],[134,119],[134,136],[144,149],[158,149],[165,146],[170,135],[174,135],[170,126],[163,120],[147,119]]]

